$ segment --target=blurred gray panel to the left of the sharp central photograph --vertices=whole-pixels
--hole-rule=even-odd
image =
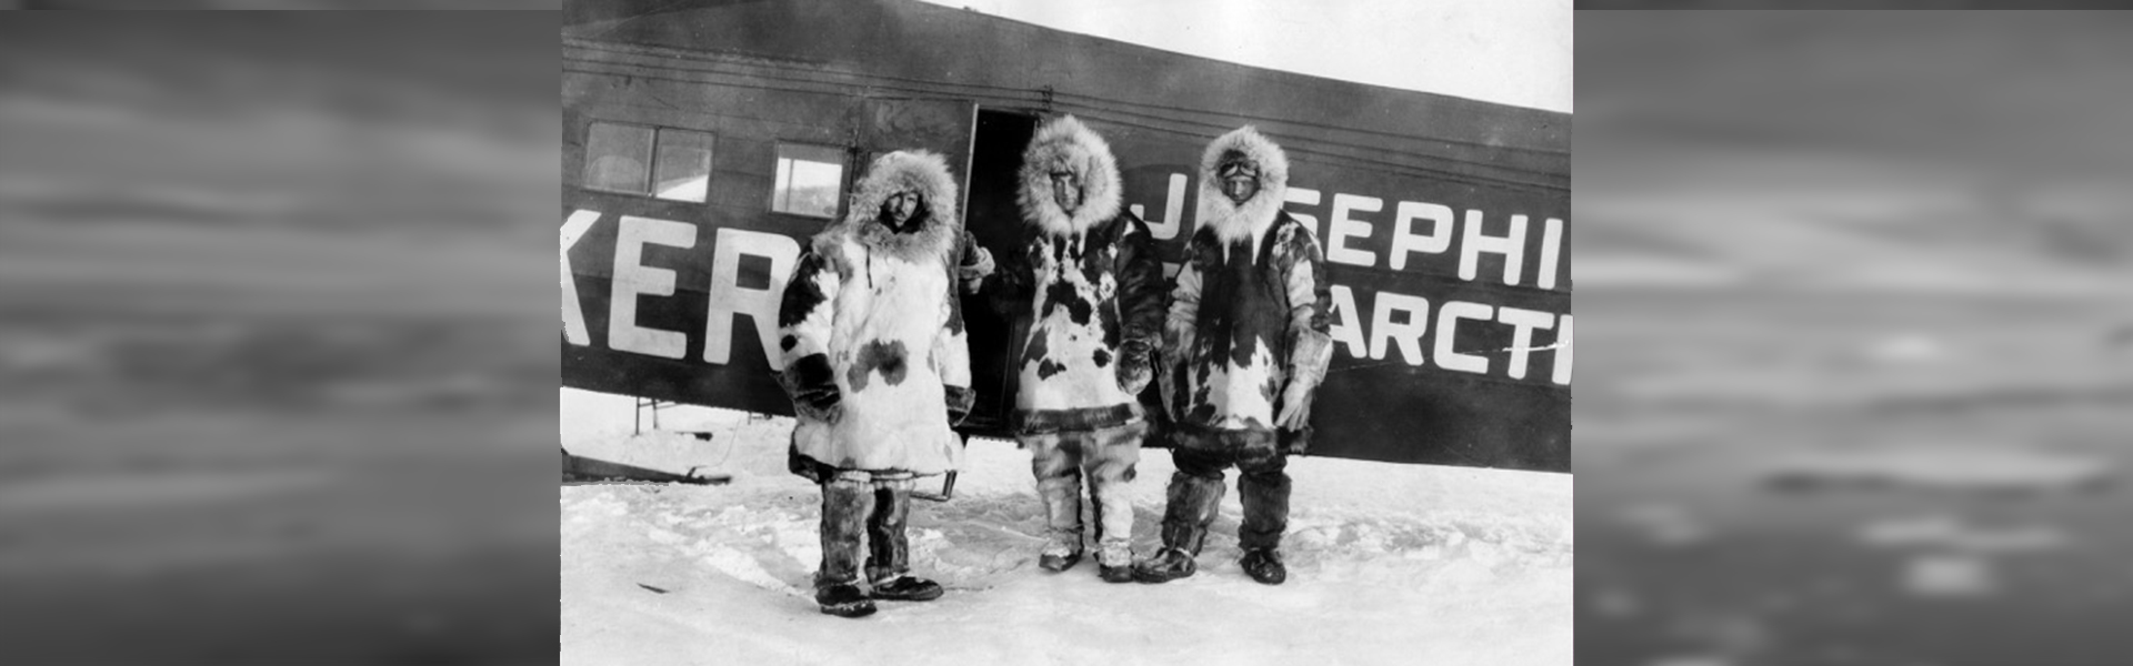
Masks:
[[[0,21],[9,664],[552,660],[555,30]]]

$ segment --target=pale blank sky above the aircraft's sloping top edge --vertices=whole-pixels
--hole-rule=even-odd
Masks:
[[[926,0],[1329,79],[1570,111],[1570,0]]]

